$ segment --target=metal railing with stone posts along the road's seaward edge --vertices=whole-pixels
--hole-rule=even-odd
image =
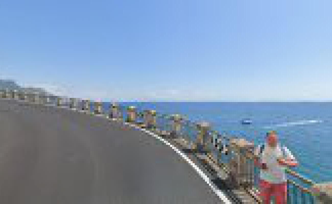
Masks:
[[[89,114],[103,115],[107,118],[126,121],[136,124],[142,128],[149,129],[156,134],[173,139],[182,147],[192,149],[193,154],[200,155],[205,152],[207,159],[215,164],[217,171],[224,171],[231,175],[234,171],[234,158],[238,157],[239,151],[232,145],[233,139],[240,139],[237,136],[213,131],[208,123],[193,123],[179,114],[160,114],[155,110],[137,110],[135,106],[124,106],[120,104],[110,104],[105,107],[105,103],[93,102],[90,100],[68,99],[54,96],[39,96],[37,93],[24,93],[13,90],[0,91],[1,98],[25,100],[38,104],[49,104],[58,107],[75,108]],[[202,151],[204,150],[204,151]],[[250,151],[249,151],[250,152]],[[242,152],[243,153],[243,152]],[[248,162],[247,166],[252,166],[253,157],[243,153],[242,158]],[[249,165],[250,164],[250,165]],[[317,199],[320,194],[313,192],[315,183],[298,174],[294,170],[287,169],[288,179],[288,204],[316,204],[321,201]],[[252,166],[248,174],[257,176],[258,169]],[[225,174],[224,174],[225,175]],[[249,178],[250,180],[251,178]],[[255,180],[253,178],[253,180]],[[237,182],[237,181],[234,181]],[[257,183],[249,181],[246,190],[255,197],[258,203],[261,200],[258,196],[259,188]]]

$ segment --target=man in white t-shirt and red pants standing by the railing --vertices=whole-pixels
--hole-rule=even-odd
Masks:
[[[297,161],[286,147],[278,143],[276,131],[266,135],[266,143],[255,150],[255,165],[260,167],[260,196],[264,204],[271,203],[271,196],[276,204],[287,203],[286,168],[295,167]]]

